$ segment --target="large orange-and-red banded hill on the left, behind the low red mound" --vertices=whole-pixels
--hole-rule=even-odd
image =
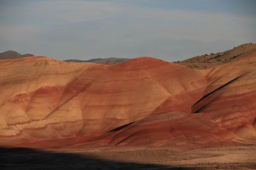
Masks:
[[[97,136],[157,113],[190,114],[207,85],[200,71],[149,57],[116,66],[28,57],[0,69],[2,142]]]

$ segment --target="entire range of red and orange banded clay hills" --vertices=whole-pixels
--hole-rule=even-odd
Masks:
[[[68,68],[68,69],[67,69]],[[206,147],[256,143],[256,53],[206,70],[0,60],[0,144]]]

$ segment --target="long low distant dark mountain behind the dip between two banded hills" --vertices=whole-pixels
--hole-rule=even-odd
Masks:
[[[80,60],[80,59],[67,59],[67,60],[63,60],[66,62],[93,62],[93,63],[121,63],[121,62],[125,62],[128,61],[128,58],[115,58],[115,57],[111,57],[111,58],[96,58],[96,59],[89,59],[89,60]]]

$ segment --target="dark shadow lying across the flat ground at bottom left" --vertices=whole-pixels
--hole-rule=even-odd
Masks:
[[[0,148],[1,170],[195,170],[96,159],[74,153],[55,153],[29,148]]]

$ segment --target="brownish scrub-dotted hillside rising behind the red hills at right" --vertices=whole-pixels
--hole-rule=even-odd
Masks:
[[[244,57],[248,54],[256,52],[256,44],[247,43],[234,47],[231,50],[224,52],[204,54],[201,56],[192,57],[183,61],[177,61],[174,63],[180,65],[186,65],[193,69],[207,69],[212,68],[217,65],[222,65],[224,63],[235,61],[241,57]]]

